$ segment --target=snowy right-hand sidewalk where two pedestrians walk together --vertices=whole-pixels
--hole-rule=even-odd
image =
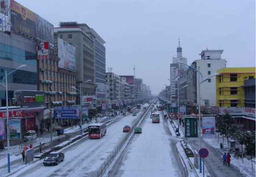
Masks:
[[[176,124],[178,124],[178,120],[174,120]],[[184,127],[180,126],[180,131],[184,134]],[[188,144],[196,151],[199,151],[199,139],[198,138],[182,138],[187,142]],[[218,149],[210,146],[208,143],[202,139],[202,148],[206,148],[209,151],[209,155],[207,158],[205,158],[204,162],[205,165],[211,175],[211,177],[243,177],[241,174],[241,169],[238,169],[237,167],[234,167],[232,165],[232,161],[234,158],[231,157],[231,163],[230,166],[224,166],[222,161],[222,152],[220,152]],[[241,159],[242,161],[242,159]],[[254,170],[255,171],[255,170]],[[255,173],[255,172],[254,172]],[[255,175],[254,175],[255,176]]]

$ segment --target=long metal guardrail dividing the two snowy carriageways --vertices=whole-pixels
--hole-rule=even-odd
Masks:
[[[148,107],[148,109],[150,108],[150,106]],[[102,177],[103,173],[106,172],[106,168],[109,167],[109,165],[112,163],[112,161],[114,160],[114,158],[116,157],[116,155],[118,154],[118,152],[122,149],[122,147],[124,146],[124,144],[126,143],[126,141],[128,140],[128,138],[130,137],[131,134],[133,134],[134,132],[134,128],[139,124],[139,122],[145,117],[145,115],[148,112],[148,109],[146,110],[145,114],[136,121],[136,123],[134,124],[134,126],[132,126],[131,130],[128,132],[128,134],[126,134],[126,136],[124,136],[124,138],[121,140],[121,142],[116,146],[116,148],[110,153],[110,155],[108,156],[108,158],[104,161],[104,163],[102,163],[102,165],[100,165],[100,168],[97,170],[97,172],[92,176],[92,177]]]

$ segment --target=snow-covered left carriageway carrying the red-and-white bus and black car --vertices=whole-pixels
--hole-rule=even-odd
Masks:
[[[148,108],[149,105],[145,106]],[[62,151],[65,153],[65,159],[57,166],[45,167],[43,163],[40,163],[22,174],[14,174],[13,176],[90,177],[122,140],[123,136],[125,135],[125,133],[122,132],[122,128],[125,125],[133,126],[135,120],[142,116],[144,112],[145,110],[141,108],[137,116],[126,114],[126,116],[123,118],[120,118],[107,126],[107,134],[101,139],[90,140],[86,138],[74,146]]]

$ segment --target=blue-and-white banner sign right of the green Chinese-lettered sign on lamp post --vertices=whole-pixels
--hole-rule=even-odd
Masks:
[[[202,118],[203,138],[215,138],[215,117]]]

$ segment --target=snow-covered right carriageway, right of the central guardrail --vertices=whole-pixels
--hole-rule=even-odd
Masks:
[[[152,123],[150,111],[144,118],[142,134],[134,134],[108,177],[188,176],[178,155],[176,142],[160,113],[160,123]]]

